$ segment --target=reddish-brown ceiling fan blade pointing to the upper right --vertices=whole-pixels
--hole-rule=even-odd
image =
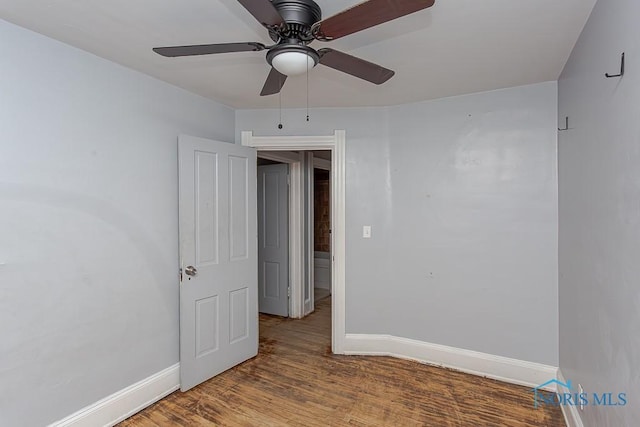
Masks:
[[[316,39],[335,40],[433,6],[435,0],[368,0],[317,22]]]

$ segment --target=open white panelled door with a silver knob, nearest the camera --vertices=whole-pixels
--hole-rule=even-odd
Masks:
[[[178,141],[180,388],[258,353],[256,151]]]

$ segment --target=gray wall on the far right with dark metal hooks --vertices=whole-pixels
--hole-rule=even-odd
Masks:
[[[640,425],[639,16],[637,0],[599,1],[559,81],[560,369],[629,400],[587,406],[585,426]],[[627,73],[606,79],[622,51]]]

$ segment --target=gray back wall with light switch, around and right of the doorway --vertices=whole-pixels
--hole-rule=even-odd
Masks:
[[[243,110],[236,141],[346,129],[348,333],[557,366],[556,89]]]

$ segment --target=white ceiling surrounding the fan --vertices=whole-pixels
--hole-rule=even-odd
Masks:
[[[427,10],[330,46],[396,71],[376,86],[317,66],[312,107],[395,105],[556,80],[596,0],[436,0]],[[358,0],[316,0],[328,17]],[[0,0],[0,18],[235,108],[273,108],[260,97],[265,51],[164,58],[155,46],[259,41],[267,32],[236,0]],[[306,102],[292,77],[283,107]]]

